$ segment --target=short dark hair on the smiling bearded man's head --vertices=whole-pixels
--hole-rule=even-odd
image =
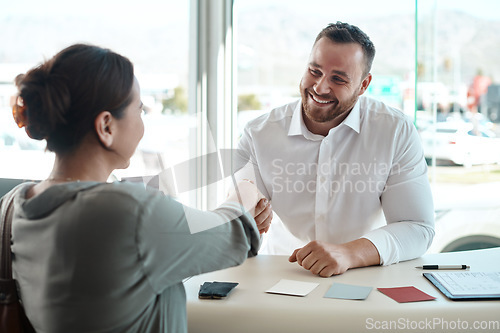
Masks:
[[[361,29],[355,25],[348,23],[337,22],[330,23],[316,37],[314,43],[323,37],[329,38],[335,43],[357,43],[361,45],[365,55],[365,71],[364,75],[368,75],[372,68],[373,58],[375,58],[375,46],[372,41]]]

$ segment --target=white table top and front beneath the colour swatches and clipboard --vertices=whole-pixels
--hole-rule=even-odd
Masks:
[[[471,271],[500,271],[500,248],[429,254],[391,266],[353,269],[331,278],[315,276],[289,263],[286,256],[258,255],[241,266],[185,282],[188,331],[500,332],[500,301],[451,301],[422,276],[424,271],[415,268],[422,264],[466,264]],[[280,279],[320,285],[305,297],[265,293]],[[198,291],[205,281],[239,285],[226,299],[201,300]],[[334,282],[371,286],[373,290],[362,301],[324,298]],[[437,299],[397,303],[376,290],[403,286],[415,286]]]

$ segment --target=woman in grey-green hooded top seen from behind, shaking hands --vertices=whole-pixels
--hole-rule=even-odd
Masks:
[[[47,179],[14,190],[13,275],[34,328],[186,332],[182,280],[257,254],[270,223],[260,192],[239,183],[202,212],[142,185],[107,183],[144,133],[132,63],[108,49],[70,46],[16,84],[16,122],[56,155]],[[261,211],[268,218],[256,223]]]

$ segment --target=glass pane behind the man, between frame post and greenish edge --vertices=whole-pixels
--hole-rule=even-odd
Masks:
[[[362,9],[362,10],[360,10]],[[316,35],[329,23],[347,22],[376,48],[367,95],[414,117],[415,2],[400,0],[236,0],[237,130],[271,109],[300,98]],[[258,36],[258,38],[256,38]],[[304,244],[274,214],[263,252],[290,254]],[[279,242],[272,240],[279,234]],[[278,244],[279,243],[279,244]]]

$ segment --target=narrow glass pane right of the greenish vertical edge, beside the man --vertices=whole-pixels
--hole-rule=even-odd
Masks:
[[[418,116],[430,252],[500,246],[500,2],[418,0]]]

